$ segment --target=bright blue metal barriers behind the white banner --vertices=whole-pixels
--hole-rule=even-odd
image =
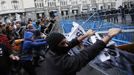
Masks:
[[[109,16],[109,14],[103,15],[103,17],[106,16]],[[117,35],[113,38],[113,41],[115,41],[117,45],[129,44],[134,42],[134,26],[129,26],[127,24],[115,24],[114,22],[107,22],[104,20],[104,18],[102,18],[102,15],[100,15],[98,12],[94,12],[92,14],[85,14],[84,18],[82,14],[79,16],[72,16],[71,18],[63,18],[63,20],[60,21],[60,25],[62,26],[63,30],[71,31],[73,21],[81,25],[85,31],[87,31],[88,29],[93,29],[96,32],[99,32],[100,34],[104,34],[104,32],[110,28],[121,28],[122,30],[127,32],[123,32]]]

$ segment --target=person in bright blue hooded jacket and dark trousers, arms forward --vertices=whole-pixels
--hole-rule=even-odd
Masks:
[[[46,44],[44,39],[33,39],[32,32],[24,33],[24,41],[20,55],[22,67],[28,72],[29,75],[36,75],[35,66],[33,64],[33,48],[40,47]]]

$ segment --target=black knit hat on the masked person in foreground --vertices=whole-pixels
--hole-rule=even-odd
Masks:
[[[48,45],[51,49],[55,48],[63,39],[65,36],[61,33],[53,32],[48,35],[46,38]]]

